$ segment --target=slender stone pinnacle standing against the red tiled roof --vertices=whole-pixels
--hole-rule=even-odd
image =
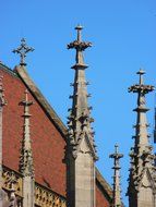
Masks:
[[[25,100],[21,105],[24,106],[24,132],[20,159],[20,172],[23,174],[23,207],[34,207],[34,167],[29,132],[29,106],[33,105],[33,101],[28,100],[27,89],[25,90]]]

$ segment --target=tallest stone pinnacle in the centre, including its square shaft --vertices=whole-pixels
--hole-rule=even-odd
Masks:
[[[83,51],[91,47],[91,42],[82,41],[82,26],[76,26],[77,39],[68,45],[68,49],[76,50],[72,108],[69,110],[69,133],[67,144],[67,200],[68,207],[95,207],[95,161],[96,149],[91,122],[91,107],[86,90]]]

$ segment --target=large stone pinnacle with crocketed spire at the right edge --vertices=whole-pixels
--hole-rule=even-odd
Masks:
[[[154,86],[145,85],[143,81],[144,71],[140,70],[139,84],[129,88],[129,92],[137,94],[136,124],[134,147],[131,148],[131,169],[129,178],[129,206],[130,207],[155,207],[156,206],[156,179],[154,167],[154,155],[149,144],[145,95],[154,90]]]

